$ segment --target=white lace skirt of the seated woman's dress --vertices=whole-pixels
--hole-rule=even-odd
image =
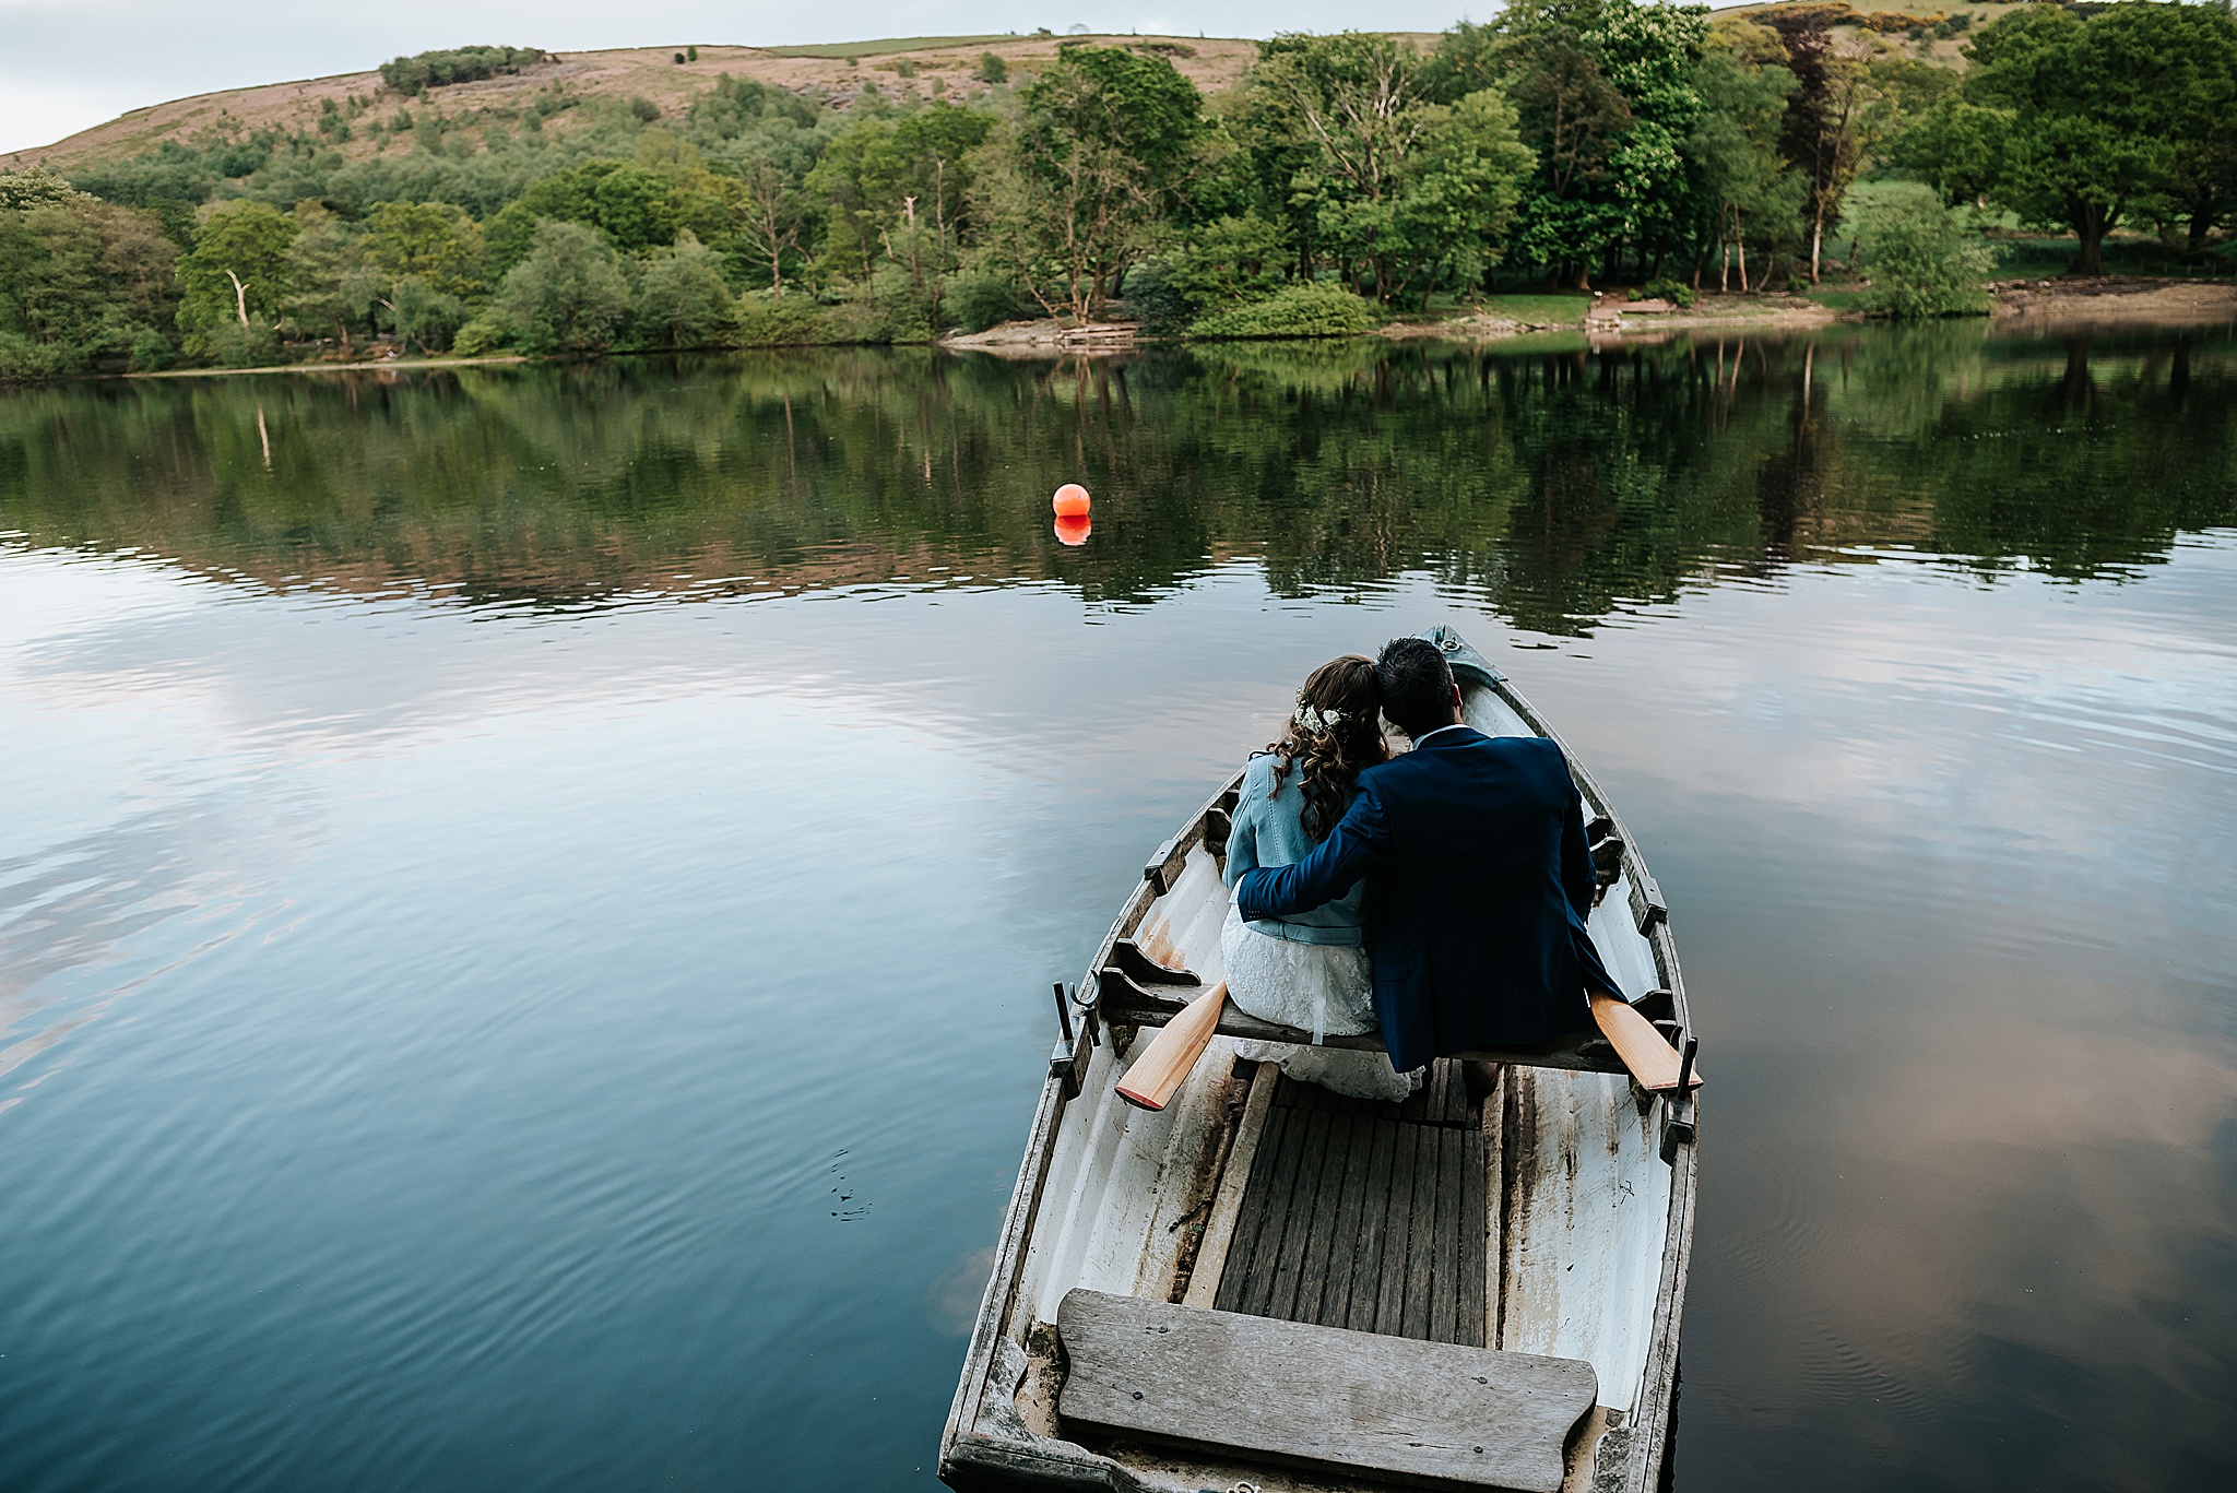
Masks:
[[[1228,998],[1259,1021],[1280,1021],[1322,1036],[1360,1036],[1376,1030],[1374,980],[1367,949],[1309,945],[1255,933],[1235,904],[1219,929]],[[1405,1099],[1420,1088],[1420,1070],[1396,1072],[1387,1052],[1304,1048],[1293,1043],[1235,1043],[1255,1063],[1280,1063],[1300,1083],[1353,1099]]]

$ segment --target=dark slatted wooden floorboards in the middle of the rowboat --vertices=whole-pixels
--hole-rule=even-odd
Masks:
[[[1215,1305],[1485,1345],[1481,1112],[1461,1065],[1398,1104],[1282,1079]]]

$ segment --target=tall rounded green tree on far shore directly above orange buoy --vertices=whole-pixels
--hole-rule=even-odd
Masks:
[[[1056,313],[1103,313],[1172,206],[1204,96],[1163,58],[1060,47],[984,159],[989,251]]]

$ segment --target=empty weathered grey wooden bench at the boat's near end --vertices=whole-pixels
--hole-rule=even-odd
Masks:
[[[1322,1471],[1557,1493],[1591,1363],[1072,1289],[1058,1415]]]

